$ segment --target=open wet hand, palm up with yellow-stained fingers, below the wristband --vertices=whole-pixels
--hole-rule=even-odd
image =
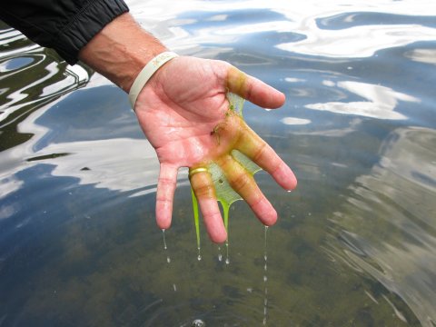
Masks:
[[[177,57],[164,64],[139,94],[135,112],[159,158],[156,220],[171,225],[173,194],[180,167],[219,164],[229,183],[266,225],[277,213],[253,179],[230,154],[237,149],[271,173],[284,189],[297,181],[291,169],[243,119],[229,111],[227,92],[265,108],[284,103],[284,94],[243,74],[230,64],[193,57]],[[201,171],[201,170],[200,170]],[[211,175],[194,173],[190,179],[206,230],[213,242],[223,243],[227,233],[216,202]]]

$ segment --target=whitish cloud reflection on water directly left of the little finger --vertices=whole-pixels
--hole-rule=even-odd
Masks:
[[[115,191],[142,191],[145,187],[150,193],[155,192],[159,162],[154,148],[145,139],[50,144],[34,155],[44,157],[65,151],[70,154],[37,163],[54,164],[54,176],[75,177],[80,184]]]

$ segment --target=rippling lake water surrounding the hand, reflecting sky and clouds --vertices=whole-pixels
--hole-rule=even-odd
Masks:
[[[164,250],[126,95],[0,25],[0,326],[436,326],[434,2],[128,5],[173,51],[286,94],[244,118],[298,189],[257,173],[266,246],[237,202],[230,263],[203,226],[198,261],[183,170]]]

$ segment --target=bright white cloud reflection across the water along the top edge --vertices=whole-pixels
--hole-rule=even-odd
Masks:
[[[208,44],[213,39],[214,44],[229,44],[233,40],[229,38],[241,37],[241,35],[260,33],[265,31],[282,31],[296,35],[303,35],[296,42],[282,42],[276,47],[284,51],[322,55],[327,57],[368,57],[381,49],[394,46],[410,45],[418,41],[436,40],[436,29],[418,24],[377,24],[377,25],[352,25],[350,21],[359,13],[367,15],[406,15],[428,16],[433,15],[429,11],[428,1],[391,0],[378,1],[377,4],[367,1],[341,1],[332,0],[320,2],[309,0],[295,5],[285,1],[248,0],[238,2],[228,1],[198,1],[190,0],[182,2],[159,1],[153,4],[143,1],[128,0],[132,14],[139,19],[144,28],[157,37],[163,39],[165,44],[175,50],[195,49],[200,45]],[[193,8],[195,10],[193,11]],[[277,13],[277,19],[271,19],[268,23],[253,24],[250,15],[245,15],[234,25],[229,20],[229,13],[239,10],[246,11],[251,8],[255,11],[263,10],[269,13]],[[202,18],[203,13],[203,18]],[[209,15],[210,13],[210,15]],[[318,20],[329,20],[331,17],[342,15],[345,25],[337,22],[332,28],[322,28],[317,24]],[[195,34],[191,35],[188,29],[180,24],[177,17],[193,17],[197,20]],[[207,25],[204,22],[222,22],[216,25]],[[228,23],[226,23],[228,21]],[[367,22],[368,20],[364,20]],[[399,19],[400,21],[400,19]],[[176,28],[174,28],[176,27]],[[329,26],[330,27],[330,26]],[[191,35],[189,43],[185,35]],[[222,35],[221,39],[218,37]],[[294,40],[295,41],[295,40]]]

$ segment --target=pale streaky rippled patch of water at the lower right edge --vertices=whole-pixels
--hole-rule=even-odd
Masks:
[[[434,144],[434,130],[392,133],[381,147],[381,162],[356,179],[335,213],[333,222],[347,243],[331,243],[338,256],[407,302],[423,326],[436,322]]]

